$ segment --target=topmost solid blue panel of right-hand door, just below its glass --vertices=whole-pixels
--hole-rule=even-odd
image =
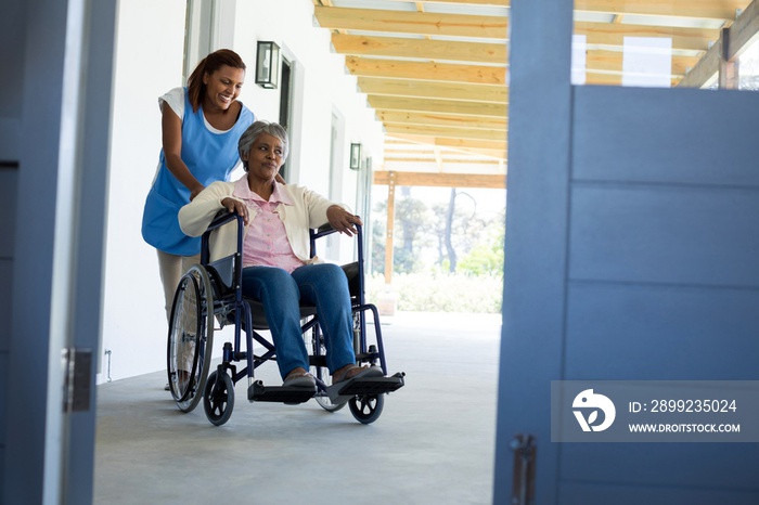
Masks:
[[[759,94],[573,89],[573,180],[759,186]]]

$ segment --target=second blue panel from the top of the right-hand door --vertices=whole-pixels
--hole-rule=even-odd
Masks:
[[[569,276],[759,286],[757,216],[750,186],[575,183]]]

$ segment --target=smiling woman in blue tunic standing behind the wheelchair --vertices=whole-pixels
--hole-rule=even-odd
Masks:
[[[255,120],[236,100],[244,80],[242,59],[220,49],[197,64],[186,88],[158,99],[163,148],[145,202],[142,237],[158,251],[167,320],[177,285],[200,262],[201,251],[201,239],[182,233],[177,215],[205,186],[229,180],[240,163],[237,140]]]

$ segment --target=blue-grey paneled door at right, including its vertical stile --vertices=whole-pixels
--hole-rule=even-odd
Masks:
[[[759,503],[757,443],[550,430],[552,380],[759,377],[759,95],[574,88],[570,5],[513,2],[512,23],[494,502],[523,503],[531,455],[524,503]]]

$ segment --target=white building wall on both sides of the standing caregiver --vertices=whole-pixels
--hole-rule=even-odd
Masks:
[[[165,368],[166,316],[155,250],[142,241],[142,207],[160,150],[157,98],[181,86],[185,2],[119,2],[114,127],[111,160],[103,350],[111,350],[110,377],[119,379]],[[343,56],[330,52],[326,30],[314,27],[310,0],[222,2],[216,39],[235,50],[248,72],[241,100],[262,119],[278,119],[279,92],[254,83],[256,41],[274,40],[295,62],[294,125],[290,182],[329,192],[333,108],[346,119],[345,142],[382,155],[383,133]],[[232,20],[233,17],[233,20]],[[356,176],[344,150],[342,200],[356,202]],[[352,247],[340,247],[342,257]],[[228,334],[226,331],[224,334]],[[223,341],[217,336],[215,351]],[[101,355],[99,383],[108,377]],[[156,388],[163,387],[156,384]]]

